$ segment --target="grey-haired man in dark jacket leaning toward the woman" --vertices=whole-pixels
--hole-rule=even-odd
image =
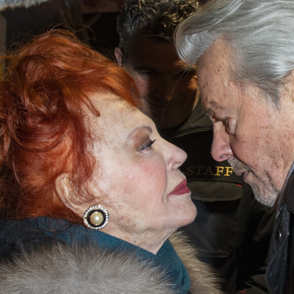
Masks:
[[[277,206],[270,293],[294,292],[294,1],[217,0],[183,21],[180,57],[198,64],[212,119],[212,156],[228,160],[256,199]]]

